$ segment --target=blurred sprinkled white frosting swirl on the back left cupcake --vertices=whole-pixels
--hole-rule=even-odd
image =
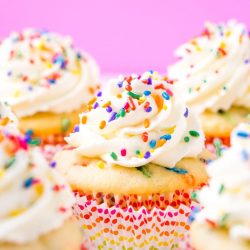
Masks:
[[[69,37],[25,29],[0,43],[0,79],[0,100],[8,102],[18,117],[62,113],[92,98],[98,67]]]

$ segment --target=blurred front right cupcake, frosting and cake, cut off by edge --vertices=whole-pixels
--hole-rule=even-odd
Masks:
[[[233,131],[231,143],[209,165],[210,185],[198,196],[204,209],[191,227],[196,250],[250,249],[250,123]]]

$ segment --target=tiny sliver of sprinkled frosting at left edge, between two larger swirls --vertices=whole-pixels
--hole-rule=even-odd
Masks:
[[[11,108],[3,102],[0,102],[0,126],[17,127],[16,116],[11,112]]]

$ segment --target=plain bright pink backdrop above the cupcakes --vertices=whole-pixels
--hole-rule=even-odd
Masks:
[[[250,0],[0,0],[0,12],[1,38],[24,27],[69,34],[105,73],[165,71],[206,20],[250,27]]]

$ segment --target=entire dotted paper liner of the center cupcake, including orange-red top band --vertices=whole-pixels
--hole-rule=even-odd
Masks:
[[[84,229],[88,249],[181,249],[190,229],[190,212],[198,206],[190,195],[191,191],[176,191],[146,200],[77,193],[73,212]]]

